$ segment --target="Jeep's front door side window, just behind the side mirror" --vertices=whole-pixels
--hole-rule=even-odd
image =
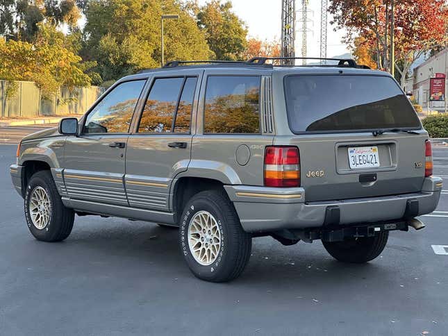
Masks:
[[[117,85],[89,113],[83,133],[127,133],[145,82],[130,81]]]

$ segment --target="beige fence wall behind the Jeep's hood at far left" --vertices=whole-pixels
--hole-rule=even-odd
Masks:
[[[47,115],[83,115],[105,91],[103,87],[78,87],[72,92],[61,87],[56,96],[44,99],[33,82],[15,82],[17,90],[6,96],[10,83],[0,81],[0,117],[42,117]]]

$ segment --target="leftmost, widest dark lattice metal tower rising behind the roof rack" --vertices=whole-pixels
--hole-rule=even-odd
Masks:
[[[281,2],[281,57],[295,57],[295,0]],[[294,65],[294,60],[282,60],[283,65]]]

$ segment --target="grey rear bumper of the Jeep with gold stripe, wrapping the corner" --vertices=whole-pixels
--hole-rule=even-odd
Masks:
[[[416,217],[438,205],[442,179],[425,178],[421,192],[364,199],[304,202],[304,188],[224,186],[251,233],[281,229],[318,228],[326,225],[362,224]]]

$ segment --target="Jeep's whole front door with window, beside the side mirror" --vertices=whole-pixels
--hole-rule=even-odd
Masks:
[[[119,83],[85,117],[78,136],[67,137],[63,171],[72,199],[128,205],[124,162],[133,112],[146,79]]]

